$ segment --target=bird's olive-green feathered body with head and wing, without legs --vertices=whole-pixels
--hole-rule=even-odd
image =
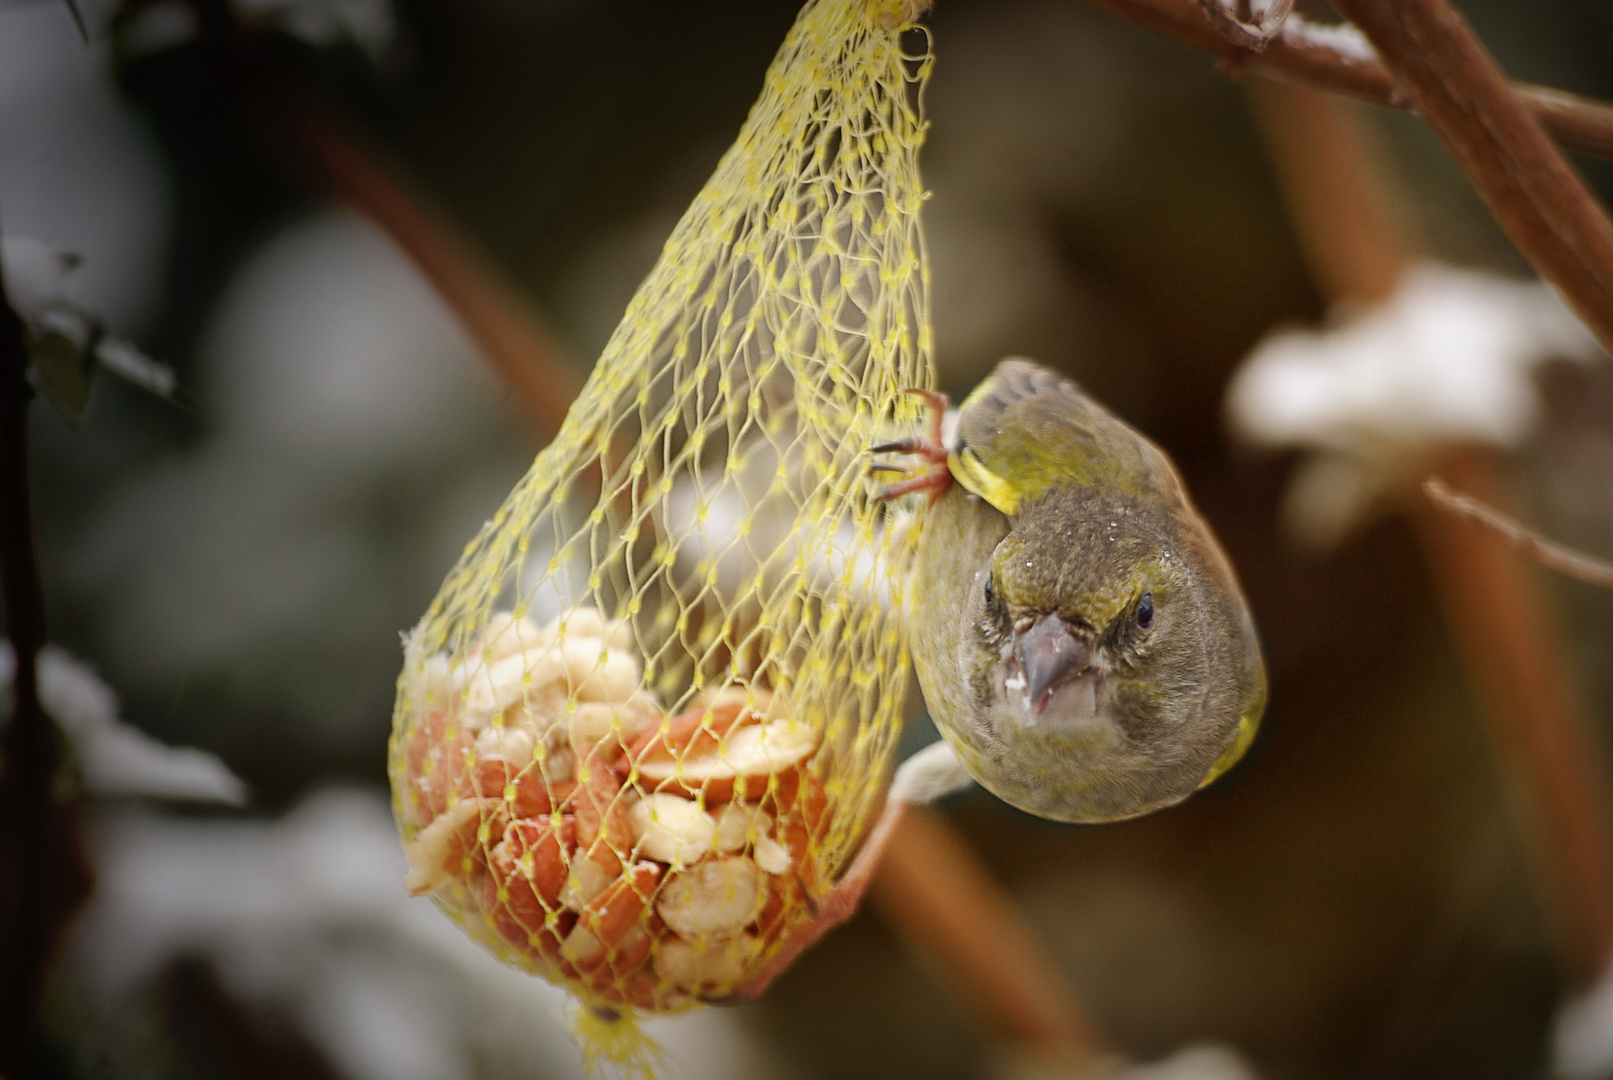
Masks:
[[[918,550],[931,716],[998,798],[1058,820],[1187,798],[1253,737],[1265,671],[1237,579],[1165,453],[1005,359],[963,403]]]

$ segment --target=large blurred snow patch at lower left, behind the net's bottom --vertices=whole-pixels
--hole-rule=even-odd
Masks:
[[[277,820],[92,819],[97,890],[71,961],[115,1003],[205,957],[231,993],[295,1017],[353,1080],[582,1080],[568,995],[506,967],[424,898],[379,793],[327,788]],[[782,1075],[731,1011],[647,1020],[668,1077]]]

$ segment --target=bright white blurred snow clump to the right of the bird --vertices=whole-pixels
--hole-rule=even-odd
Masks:
[[[1232,377],[1226,414],[1252,443],[1316,451],[1284,516],[1326,548],[1437,448],[1521,445],[1544,413],[1534,371],[1598,356],[1550,287],[1423,264],[1387,303],[1332,329],[1269,335]]]

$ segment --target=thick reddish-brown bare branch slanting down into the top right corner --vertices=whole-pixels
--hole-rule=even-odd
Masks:
[[[1445,0],[1336,0],[1524,258],[1613,353],[1613,221]]]

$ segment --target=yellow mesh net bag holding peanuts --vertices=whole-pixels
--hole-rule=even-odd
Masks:
[[[879,804],[907,542],[868,448],[934,382],[908,6],[802,10],[555,442],[406,640],[410,890],[603,1016],[742,988]]]

